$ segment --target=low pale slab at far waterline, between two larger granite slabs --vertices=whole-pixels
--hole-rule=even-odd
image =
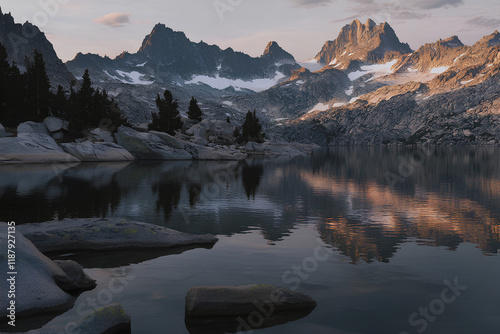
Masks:
[[[115,143],[65,143],[64,151],[81,161],[133,161],[135,157],[126,149]]]

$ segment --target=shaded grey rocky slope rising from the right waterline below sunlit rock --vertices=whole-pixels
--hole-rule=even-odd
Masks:
[[[414,90],[401,86],[401,94],[387,100],[370,103],[361,98],[345,107],[309,115],[308,120],[322,128],[335,145],[498,145],[499,81],[500,73],[474,86],[430,96],[419,86]],[[313,132],[300,123],[296,126],[300,130],[290,129],[290,139]]]

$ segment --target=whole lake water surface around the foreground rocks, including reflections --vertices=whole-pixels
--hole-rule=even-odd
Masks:
[[[133,333],[188,333],[191,286],[267,283],[318,306],[254,333],[498,333],[500,151],[415,152],[0,166],[0,221],[123,217],[220,238],[180,254],[65,256],[98,287],[48,325],[119,302]]]

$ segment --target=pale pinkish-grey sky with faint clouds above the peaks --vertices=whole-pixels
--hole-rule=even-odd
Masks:
[[[111,58],[135,53],[154,25],[183,31],[193,42],[260,56],[276,41],[298,61],[359,19],[388,22],[417,49],[458,35],[474,44],[500,30],[498,0],[2,0],[16,22],[36,24],[63,61],[78,52]]]

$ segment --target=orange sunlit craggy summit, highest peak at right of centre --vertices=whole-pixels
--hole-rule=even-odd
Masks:
[[[376,25],[372,20],[365,24],[354,20],[340,31],[334,41],[328,41],[315,59],[322,65],[347,69],[353,60],[378,63],[388,53],[410,53],[408,44],[401,43],[388,23]]]

